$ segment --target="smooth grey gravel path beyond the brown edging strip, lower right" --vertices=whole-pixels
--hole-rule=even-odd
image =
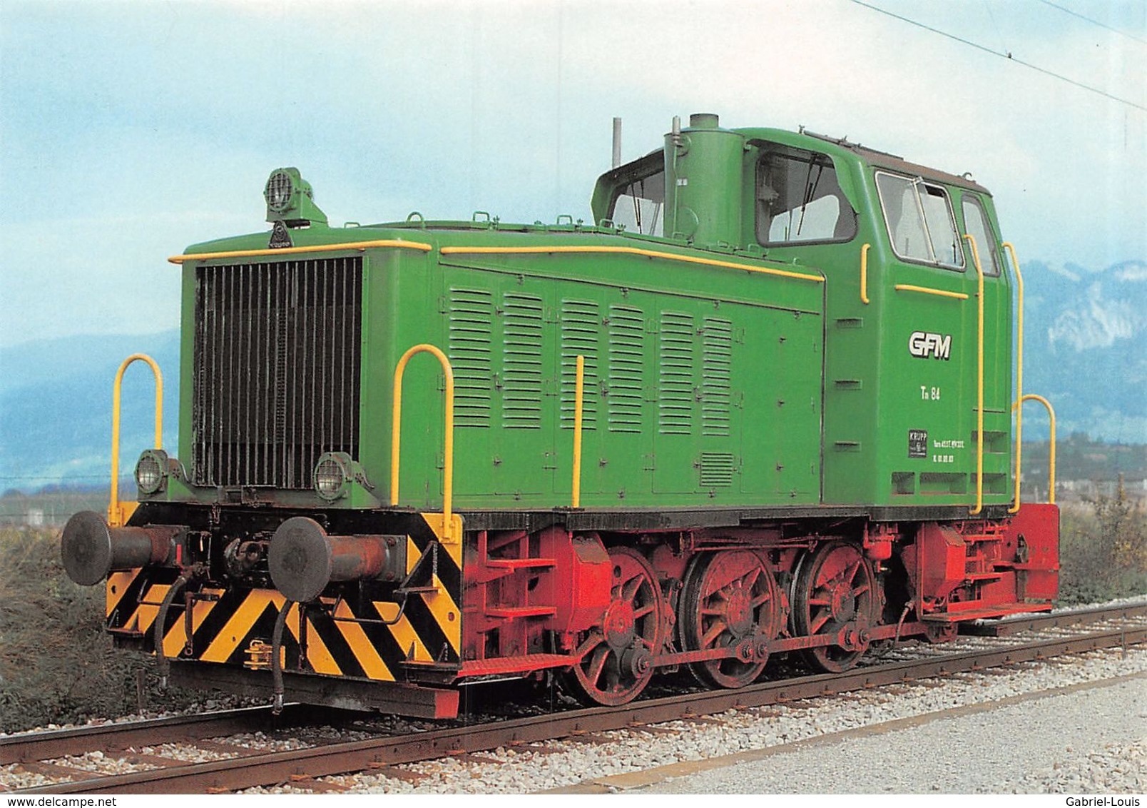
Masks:
[[[650,793],[1142,793],[1147,679],[845,733],[793,752],[666,778]],[[649,772],[655,778],[658,772]]]

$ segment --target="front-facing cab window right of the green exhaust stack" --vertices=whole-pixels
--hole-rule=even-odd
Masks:
[[[757,163],[757,241],[788,244],[848,241],[857,216],[822,154],[774,147]]]

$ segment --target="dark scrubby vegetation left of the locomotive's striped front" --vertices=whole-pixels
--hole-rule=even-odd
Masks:
[[[154,667],[112,647],[103,586],[71,582],[57,530],[0,528],[0,730],[135,713],[136,671],[159,696]],[[189,698],[170,691],[162,701],[180,707]]]

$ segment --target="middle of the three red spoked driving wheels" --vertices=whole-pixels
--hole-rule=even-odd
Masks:
[[[783,619],[773,574],[749,550],[699,556],[685,574],[678,612],[685,650],[736,652],[689,666],[702,684],[720,687],[743,687],[760,676]]]

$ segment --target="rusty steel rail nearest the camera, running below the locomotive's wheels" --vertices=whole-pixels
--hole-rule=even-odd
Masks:
[[[1038,661],[1100,648],[1147,642],[1147,627],[1092,632],[930,659],[876,665],[846,674],[819,674],[766,682],[740,690],[707,691],[650,699],[621,708],[595,707],[553,715],[432,730],[413,736],[344,741],[290,752],[243,755],[240,759],[173,766],[88,780],[55,783],[14,793],[218,793],[257,785],[288,783],[329,775],[365,771],[451,754],[521,746],[568,736],[603,732],[669,721],[689,721],[727,709],[746,709],[832,696],[881,685],[935,678],[991,667]],[[236,747],[237,748],[237,747]],[[305,787],[305,786],[303,786]]]

